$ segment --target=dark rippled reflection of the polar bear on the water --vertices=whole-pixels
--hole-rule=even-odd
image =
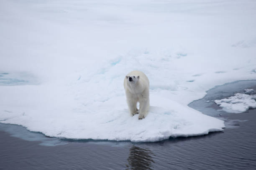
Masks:
[[[129,166],[126,170],[152,170],[153,156],[151,150],[132,146],[127,159]]]

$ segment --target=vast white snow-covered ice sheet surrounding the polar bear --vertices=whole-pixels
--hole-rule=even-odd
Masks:
[[[60,138],[158,141],[223,130],[188,107],[256,79],[256,2],[1,0],[0,122]],[[130,117],[123,79],[150,80]]]

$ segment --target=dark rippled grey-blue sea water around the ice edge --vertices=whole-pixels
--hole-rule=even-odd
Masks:
[[[255,170],[256,110],[226,113],[213,100],[256,81],[215,87],[189,106],[225,120],[224,132],[156,143],[61,140],[0,124],[0,170]]]

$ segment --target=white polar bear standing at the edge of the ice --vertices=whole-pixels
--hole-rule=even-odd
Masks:
[[[145,118],[149,109],[148,77],[141,71],[132,71],[125,76],[123,84],[131,116],[139,114],[139,120]],[[139,110],[137,109],[137,102],[140,103]]]

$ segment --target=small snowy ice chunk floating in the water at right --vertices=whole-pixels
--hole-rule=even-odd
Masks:
[[[255,99],[256,95],[236,93],[227,99],[215,100],[215,103],[223,107],[226,112],[241,113],[250,108],[256,108]]]

